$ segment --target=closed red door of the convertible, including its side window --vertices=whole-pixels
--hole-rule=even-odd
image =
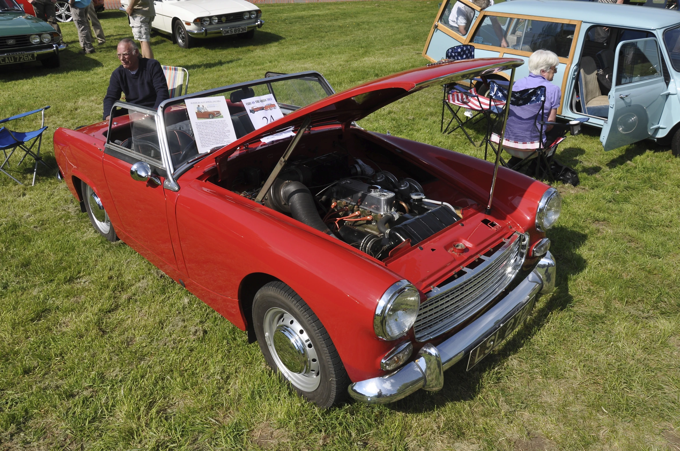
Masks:
[[[104,177],[124,233],[143,249],[128,244],[161,269],[165,265],[176,268],[163,191],[169,163],[160,149],[156,111],[116,103],[122,105],[129,112],[129,132],[115,136],[109,133],[104,149]],[[112,122],[124,122],[128,117],[112,118]],[[152,179],[133,179],[131,168],[137,162],[148,164],[160,184]]]

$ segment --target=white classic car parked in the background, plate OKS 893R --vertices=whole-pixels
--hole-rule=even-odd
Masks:
[[[125,10],[129,0],[120,2]],[[172,36],[182,48],[190,48],[197,39],[219,36],[252,38],[262,28],[262,11],[245,0],[164,0],[154,1],[154,30]]]

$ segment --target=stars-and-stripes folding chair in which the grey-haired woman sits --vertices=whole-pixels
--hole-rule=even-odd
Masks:
[[[507,90],[493,81],[490,82],[489,93],[491,98],[496,98],[499,101],[507,100]],[[533,172],[535,179],[543,180],[547,178],[549,181],[554,181],[554,179],[559,177],[563,181],[568,181],[568,183],[577,184],[578,176],[575,171],[554,162],[553,158],[558,145],[566,139],[566,132],[570,131],[571,134],[579,134],[581,132],[581,123],[588,121],[588,118],[579,118],[579,120],[571,121],[568,124],[545,121],[543,112],[545,107],[545,86],[513,91],[509,107],[510,118],[506,126],[505,137],[503,137],[502,148],[513,158],[508,162],[500,158],[501,164],[519,172],[526,170]],[[513,123],[517,124],[518,121],[524,122],[525,120],[530,122],[539,131],[538,141],[522,141],[521,138],[518,139],[519,132],[512,129]],[[548,134],[547,126],[550,125],[553,126],[555,131]],[[494,153],[501,150],[499,131],[494,130],[488,141],[488,146],[492,148]],[[554,175],[554,173],[557,175]]]

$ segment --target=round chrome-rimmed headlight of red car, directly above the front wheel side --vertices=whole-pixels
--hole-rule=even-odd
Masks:
[[[413,327],[420,306],[420,294],[409,281],[398,281],[378,301],[373,317],[375,335],[383,340],[403,337]]]

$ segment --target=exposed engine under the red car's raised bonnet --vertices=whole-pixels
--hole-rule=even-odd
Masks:
[[[242,176],[252,178],[253,171],[243,168]],[[360,159],[333,152],[288,162],[264,202],[382,260],[460,219],[460,210],[428,199],[423,191],[414,179],[398,179]],[[242,195],[252,197],[254,192]]]

